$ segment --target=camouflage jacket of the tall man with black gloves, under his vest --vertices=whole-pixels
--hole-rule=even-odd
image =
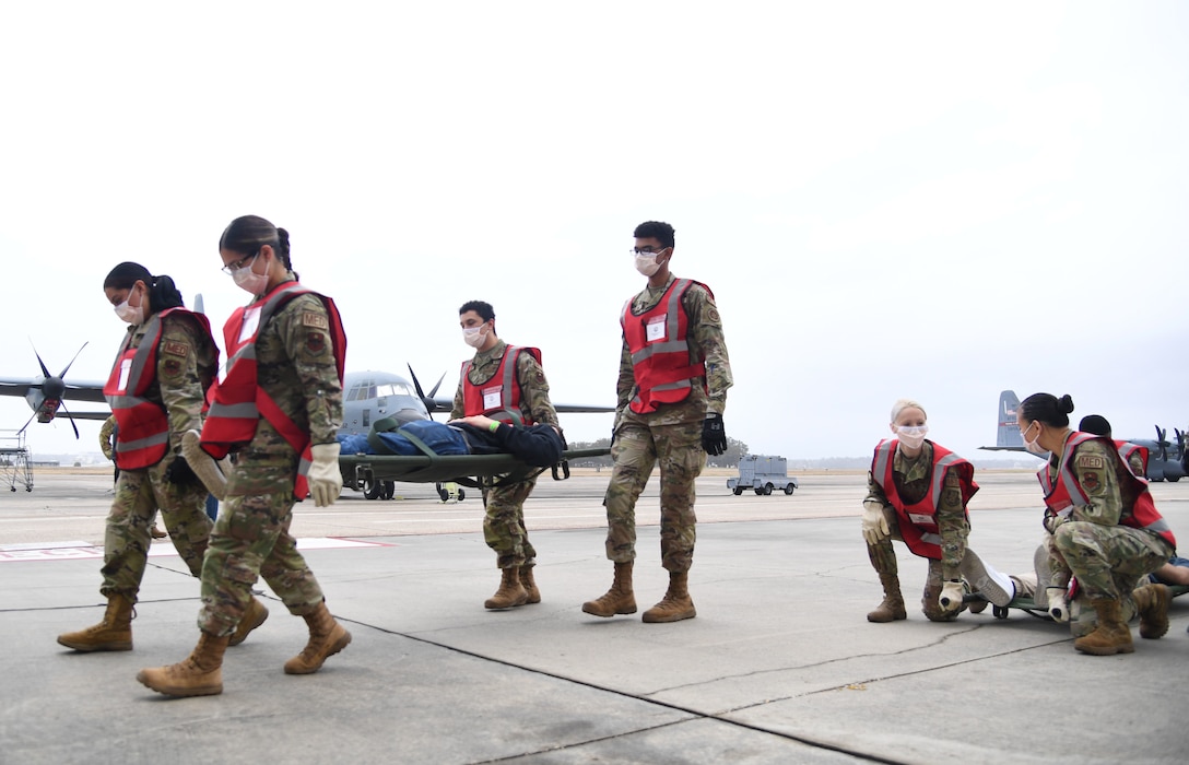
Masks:
[[[631,299],[631,312],[642,314],[661,301],[665,291],[677,281],[672,274],[661,287],[646,287]],[[705,363],[706,385],[694,384],[690,397],[678,403],[661,405],[656,412],[643,415],[649,425],[675,425],[691,420],[703,420],[707,414],[723,414],[726,408],[726,389],[735,384],[731,377],[731,363],[726,356],[726,339],[723,336],[723,320],[718,315],[715,299],[702,284],[691,284],[681,297],[681,307],[688,318],[686,340],[690,345],[690,364]],[[619,355],[619,380],[616,384],[617,419],[628,409],[636,391],[636,377],[631,365],[631,351],[628,340],[623,340]]]

